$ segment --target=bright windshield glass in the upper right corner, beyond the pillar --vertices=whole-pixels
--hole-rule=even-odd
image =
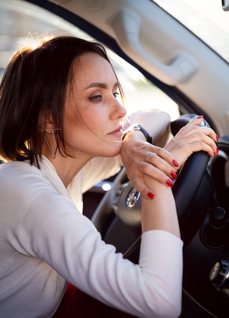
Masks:
[[[229,11],[221,0],[154,0],[229,62]]]

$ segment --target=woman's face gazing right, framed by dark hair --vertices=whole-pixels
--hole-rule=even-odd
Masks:
[[[113,156],[122,147],[125,108],[117,100],[119,86],[109,62],[85,53],[75,63],[64,106],[64,140],[73,153]]]

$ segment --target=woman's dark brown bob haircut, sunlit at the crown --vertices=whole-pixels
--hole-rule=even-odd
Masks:
[[[110,63],[103,45],[71,36],[49,37],[35,49],[25,47],[13,56],[0,85],[0,154],[4,160],[29,160],[31,165],[35,161],[40,167],[48,112],[58,150],[70,155],[63,136],[66,88],[73,78],[74,61],[87,52]],[[121,85],[120,92],[123,99]]]

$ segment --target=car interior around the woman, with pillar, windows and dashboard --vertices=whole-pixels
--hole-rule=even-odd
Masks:
[[[93,39],[109,51],[128,111],[168,112],[171,136],[203,115],[201,124],[219,136],[214,157],[193,153],[174,180],[184,242],[184,318],[225,317],[229,311],[228,11],[226,0],[0,3],[0,79],[12,52],[37,35]],[[124,168],[84,194],[84,214],[107,243],[137,263],[141,196]]]

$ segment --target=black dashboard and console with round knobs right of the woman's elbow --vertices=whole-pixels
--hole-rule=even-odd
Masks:
[[[229,136],[220,138],[217,146],[219,152],[209,160],[184,230],[181,224],[180,318],[229,316]]]

